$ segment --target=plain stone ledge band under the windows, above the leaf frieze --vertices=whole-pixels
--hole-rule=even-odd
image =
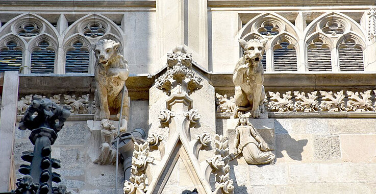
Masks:
[[[216,91],[233,91],[232,73],[203,73]],[[132,100],[148,99],[156,76],[130,75],[127,88]],[[265,72],[267,91],[376,89],[376,72]],[[1,86],[1,85],[0,85]],[[54,90],[52,90],[54,89]],[[20,75],[19,94],[94,93],[94,75]]]

